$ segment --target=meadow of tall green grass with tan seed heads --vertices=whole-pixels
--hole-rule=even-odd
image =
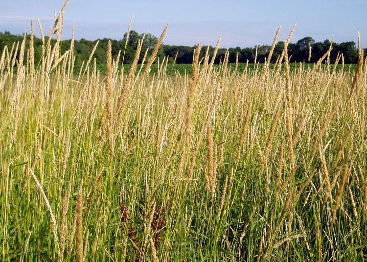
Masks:
[[[155,57],[166,27],[129,70],[109,46],[74,73],[63,13],[41,61],[33,22],[1,52],[2,261],[367,260],[361,48],[353,70],[331,48],[290,65],[292,30],[275,64],[199,44],[180,72]]]

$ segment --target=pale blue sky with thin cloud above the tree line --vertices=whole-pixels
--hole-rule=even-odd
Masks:
[[[30,21],[39,17],[48,32],[64,0],[0,0],[0,32],[30,32]],[[70,0],[65,10],[63,39],[122,39],[131,15],[132,29],[161,35],[170,23],[163,43],[194,46],[198,42],[221,47],[271,45],[279,25],[278,41],[284,41],[292,26],[291,42],[305,36],[341,43],[357,42],[367,47],[367,0]],[[40,35],[37,23],[35,34]]]

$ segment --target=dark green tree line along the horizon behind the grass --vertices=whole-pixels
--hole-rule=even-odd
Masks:
[[[124,37],[121,40],[111,40],[112,41],[112,55],[116,57],[119,50],[123,52],[125,48],[127,34],[125,33]],[[27,35],[29,39],[29,35]],[[138,40],[143,38],[143,34],[139,34],[138,32],[132,30],[130,31],[130,35],[128,38],[128,43],[126,46],[125,57],[120,56],[120,63],[122,63],[122,59],[124,59],[124,64],[130,64],[135,55],[135,50],[138,45]],[[22,42],[23,35],[14,35],[11,34],[9,31],[0,32],[0,51],[2,52],[4,46],[8,46],[10,50],[12,44],[14,42]],[[81,65],[82,61],[88,60],[89,55],[96,44],[99,41],[99,44],[94,52],[94,58],[96,59],[97,65],[102,66],[105,64],[106,60],[106,50],[107,50],[107,42],[108,38],[97,39],[94,41],[80,39],[74,41],[74,53],[76,55],[75,58],[75,66],[78,67]],[[47,41],[47,39],[46,39]],[[53,44],[56,40],[51,40],[51,44]],[[148,54],[151,51],[155,44],[157,43],[158,38],[151,35],[145,34],[142,51],[140,52],[140,56],[142,59],[144,53],[147,48]],[[70,48],[71,40],[63,40],[62,41],[62,51],[66,51]],[[290,43],[288,45],[288,52],[290,56],[290,62],[308,62],[309,56],[309,45],[311,46],[311,58],[310,63],[314,63],[319,60],[319,58],[328,50],[330,46],[330,41],[325,40],[323,42],[315,42],[312,37],[304,37],[299,39],[296,43]],[[26,43],[29,45],[29,41]],[[39,61],[42,56],[42,40],[40,38],[34,38],[34,46],[35,46],[35,59]],[[277,57],[281,54],[283,50],[284,42],[279,41],[276,46],[275,50],[271,59],[271,62],[274,63]],[[343,53],[344,56],[344,63],[345,64],[355,64],[358,60],[358,50],[356,48],[356,43],[353,41],[343,42],[343,43],[332,43],[332,51],[330,53],[330,62],[333,63],[335,58],[337,57],[338,52]],[[173,62],[176,54],[176,64],[190,64],[192,62],[192,54],[195,47],[188,47],[188,46],[170,46],[170,45],[161,45],[161,48],[158,52],[158,57],[160,59],[163,56],[169,57],[169,62]],[[257,48],[257,61],[260,63],[264,62],[265,58],[268,56],[269,50],[271,46],[263,45],[258,46]],[[217,53],[217,57],[215,59],[215,63],[219,64],[220,60],[223,58],[225,52],[229,50],[229,63],[236,62],[236,55],[238,55],[238,62],[239,63],[246,63],[247,60],[249,63],[254,62],[255,58],[255,47],[247,47],[247,48],[220,48]],[[206,47],[201,49],[202,56],[206,51]],[[211,54],[214,50],[214,47],[209,48],[209,54]],[[365,49],[365,54],[367,53],[367,48]]]

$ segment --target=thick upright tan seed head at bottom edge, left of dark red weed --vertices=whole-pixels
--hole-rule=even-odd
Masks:
[[[83,180],[80,182],[78,195],[76,197],[75,218],[76,218],[76,261],[83,262]]]

